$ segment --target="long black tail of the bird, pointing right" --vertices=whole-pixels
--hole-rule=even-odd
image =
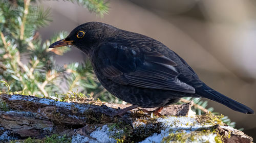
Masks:
[[[234,101],[231,98],[226,97],[225,95],[211,89],[204,83],[203,83],[202,87],[196,89],[196,94],[199,95],[200,97],[205,97],[210,100],[219,102],[223,105],[226,105],[227,107],[229,107],[235,111],[239,111],[242,113],[254,113],[254,111],[251,108],[249,108],[237,101]]]

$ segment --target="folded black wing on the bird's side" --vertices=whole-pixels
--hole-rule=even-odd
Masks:
[[[157,51],[136,51],[118,43],[103,44],[99,50],[102,73],[119,84],[195,93],[193,87],[177,78],[177,64]]]

